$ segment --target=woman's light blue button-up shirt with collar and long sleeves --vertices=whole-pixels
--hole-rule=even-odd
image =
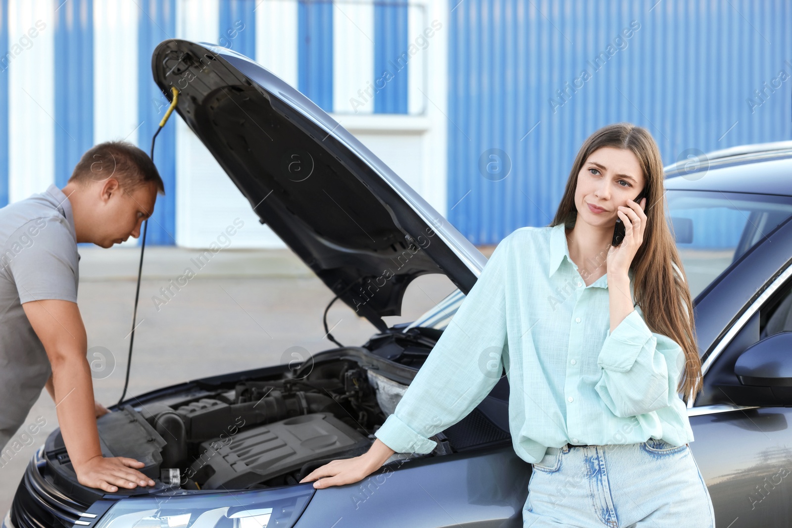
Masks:
[[[676,387],[676,341],[652,332],[639,306],[611,328],[607,275],[586,286],[565,226],[523,227],[497,246],[423,367],[375,436],[397,453],[430,453],[501,378],[510,386],[514,450],[539,462],[548,446],[693,441]],[[633,272],[630,294],[634,298]]]

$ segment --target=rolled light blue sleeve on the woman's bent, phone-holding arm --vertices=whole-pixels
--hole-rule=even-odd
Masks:
[[[683,348],[652,332],[633,310],[608,332],[597,364],[602,378],[595,389],[615,416],[629,417],[672,405],[685,363]]]

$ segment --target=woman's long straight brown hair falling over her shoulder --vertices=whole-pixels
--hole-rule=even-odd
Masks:
[[[635,302],[641,307],[646,325],[652,332],[668,336],[682,347],[686,361],[677,392],[683,393],[683,401],[687,403],[691,394],[695,399],[702,389],[701,358],[693,318],[687,317],[693,313],[687,275],[676,249],[675,237],[666,221],[668,203],[665,201],[663,162],[660,149],[649,131],[631,123],[615,123],[588,136],[577,153],[564,196],[550,226],[574,224],[577,219],[577,175],[588,157],[604,146],[630,150],[641,163],[645,180],[646,226],[641,246],[630,264],[634,273]]]

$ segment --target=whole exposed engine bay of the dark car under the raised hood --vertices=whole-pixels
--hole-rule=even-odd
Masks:
[[[135,398],[97,420],[102,453],[144,462],[143,473],[172,488],[297,484],[327,462],[364,454],[374,442],[417,371],[415,357],[405,367],[392,350],[382,357],[364,348],[337,349],[294,370],[281,366],[278,375],[190,382],[181,391]],[[487,397],[481,407],[489,405],[501,419],[477,408],[432,437],[431,454],[407,456],[508,442],[508,397],[500,407],[493,401]],[[58,480],[76,482],[59,431],[45,451]]]

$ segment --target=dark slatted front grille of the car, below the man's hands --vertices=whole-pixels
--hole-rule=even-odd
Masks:
[[[78,503],[55,488],[44,477],[44,446],[33,455],[25,477],[17,488],[11,505],[11,522],[15,528],[51,528],[52,526],[90,526],[96,515],[86,514],[86,504]]]

